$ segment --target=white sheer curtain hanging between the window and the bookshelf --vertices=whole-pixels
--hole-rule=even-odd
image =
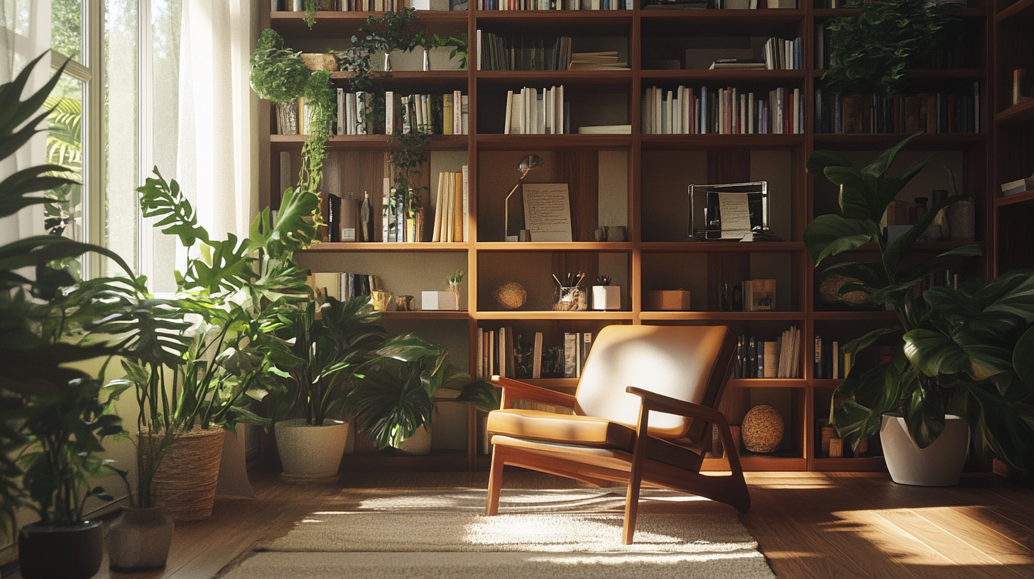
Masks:
[[[177,180],[214,239],[244,237],[258,207],[258,37],[251,0],[183,0]]]

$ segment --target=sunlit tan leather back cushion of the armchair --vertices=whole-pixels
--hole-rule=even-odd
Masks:
[[[641,399],[625,392],[629,386],[699,404],[728,331],[724,326],[608,326],[596,337],[585,362],[578,403],[588,416],[633,428]],[[677,438],[690,422],[650,413],[649,433]]]

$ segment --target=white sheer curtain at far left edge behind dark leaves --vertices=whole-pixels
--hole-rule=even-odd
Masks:
[[[51,48],[51,0],[0,0],[0,83],[10,82],[26,63]],[[52,74],[44,57],[33,70],[22,98],[33,94]],[[40,123],[47,128],[47,121]],[[47,162],[47,132],[0,161],[0,180],[28,166]],[[41,193],[39,193],[41,194]],[[43,234],[43,209],[34,205],[0,219],[0,244]]]

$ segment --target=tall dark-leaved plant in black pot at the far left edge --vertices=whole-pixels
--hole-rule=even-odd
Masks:
[[[42,130],[40,122],[52,113],[40,106],[63,67],[22,100],[41,58],[0,86],[0,160]],[[37,193],[74,185],[66,172],[44,164],[6,176],[0,182],[0,217],[52,203]],[[121,431],[120,421],[98,403],[97,382],[65,364],[105,356],[113,348],[86,345],[67,335],[65,291],[77,279],[60,267],[87,251],[111,257],[131,274],[114,252],[60,235],[0,246],[0,521],[4,530],[16,528],[16,509],[23,506],[40,518],[19,532],[26,577],[89,577],[100,566],[101,529],[84,520],[84,502],[90,496],[109,498],[89,479],[105,471],[97,453],[105,436]],[[79,551],[85,556],[72,555],[70,545],[85,546]]]

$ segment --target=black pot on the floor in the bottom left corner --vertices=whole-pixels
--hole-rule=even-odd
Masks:
[[[18,561],[25,579],[89,579],[100,570],[103,556],[100,521],[72,526],[32,523],[18,534]]]

